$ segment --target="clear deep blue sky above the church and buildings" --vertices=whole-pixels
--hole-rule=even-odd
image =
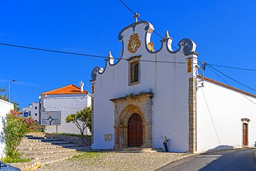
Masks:
[[[209,64],[256,69],[256,1],[123,0],[164,36],[169,30],[174,46],[188,37],[197,44],[199,60]],[[120,57],[118,33],[134,22],[133,14],[118,0],[0,1],[0,42],[57,51]],[[152,42],[159,48],[161,38]],[[0,46],[0,87],[10,86],[12,100],[26,107],[39,94],[68,84],[91,91],[91,70],[104,67],[100,58]],[[217,68],[217,67],[216,67]],[[217,68],[256,89],[255,71]],[[205,76],[220,80],[210,69]],[[223,77],[224,78],[224,77]],[[253,90],[225,78],[233,87]]]

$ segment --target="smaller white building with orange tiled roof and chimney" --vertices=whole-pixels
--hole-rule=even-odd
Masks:
[[[60,89],[41,93],[41,98],[39,98],[41,102],[39,105],[40,111],[61,112],[61,125],[46,126],[46,133],[80,134],[75,124],[66,123],[66,116],[91,106],[91,94],[88,91],[84,91],[83,87],[83,83],[81,87],[70,84]],[[86,129],[84,134],[90,134],[89,129]]]

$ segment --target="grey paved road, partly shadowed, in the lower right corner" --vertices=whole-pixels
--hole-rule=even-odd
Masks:
[[[159,171],[256,171],[256,149],[230,150],[191,156],[165,165]]]

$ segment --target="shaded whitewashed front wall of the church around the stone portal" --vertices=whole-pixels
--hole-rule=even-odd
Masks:
[[[131,26],[121,33],[124,47],[122,59],[141,55],[141,60],[187,62],[188,56],[183,53],[168,52],[166,42],[163,43],[163,48],[158,53],[149,53],[146,44],[150,42],[151,34],[147,33],[147,37],[145,37],[146,31],[143,23],[138,24],[135,28],[135,33],[138,33],[140,37],[141,46],[136,53],[129,53],[127,45],[129,37],[133,33]],[[167,39],[167,41],[172,43],[172,39]],[[181,51],[183,51],[183,47],[181,47]],[[170,139],[169,149],[171,151],[188,151],[188,79],[192,77],[192,73],[187,73],[187,64],[140,62],[140,84],[134,86],[128,86],[128,64],[127,60],[120,60],[115,66],[111,66],[107,62],[104,73],[97,73],[94,84],[95,93],[92,95],[94,97],[94,143],[92,148],[112,149],[114,146],[114,137],[112,141],[104,141],[104,134],[113,134],[114,136],[114,105],[110,99],[120,98],[128,93],[153,89],[155,93],[153,99],[153,147],[163,147],[163,138],[167,136]]]

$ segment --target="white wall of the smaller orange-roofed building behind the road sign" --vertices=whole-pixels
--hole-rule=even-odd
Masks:
[[[85,107],[91,105],[91,96],[81,94],[62,94],[41,96],[42,108],[46,111],[61,111],[61,125],[46,126],[46,133],[71,133],[80,134],[80,130],[73,123],[66,123],[66,116],[74,114]],[[84,134],[90,134],[89,129],[84,130]]]

